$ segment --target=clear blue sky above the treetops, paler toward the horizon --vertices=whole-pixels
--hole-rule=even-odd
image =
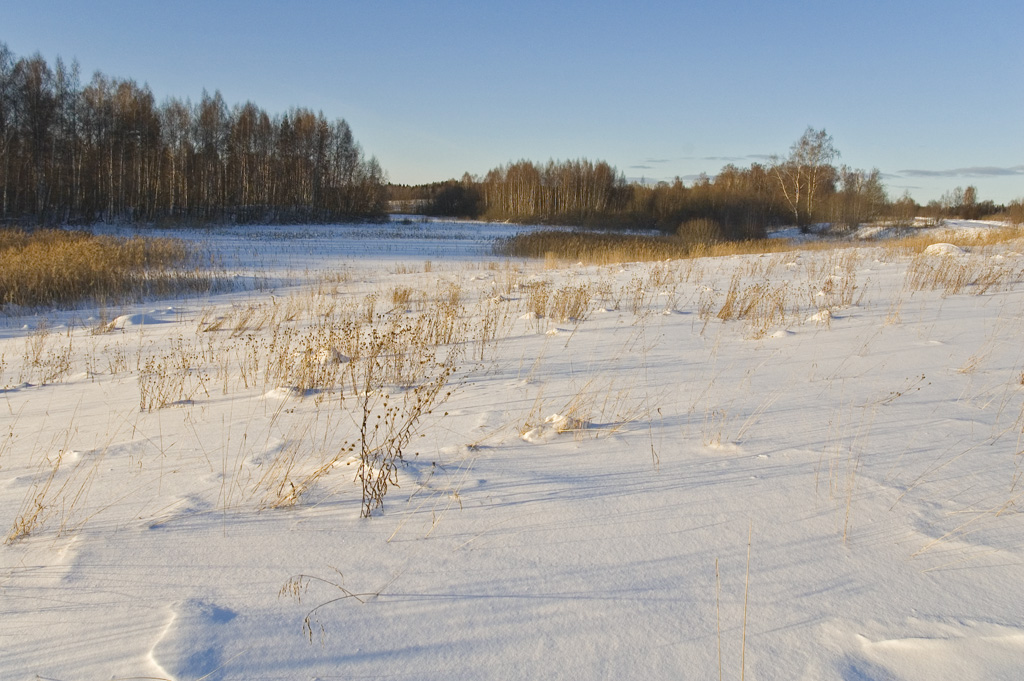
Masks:
[[[825,128],[920,202],[1024,197],[1024,3],[0,0],[0,41],[145,82],[344,118],[392,181],[587,157],[714,175]]]

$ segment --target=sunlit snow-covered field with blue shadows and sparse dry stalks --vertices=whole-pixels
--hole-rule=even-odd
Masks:
[[[509,231],[214,230],[233,292],[0,320],[0,678],[1024,677],[1024,245]],[[360,517],[361,407],[442,360]]]

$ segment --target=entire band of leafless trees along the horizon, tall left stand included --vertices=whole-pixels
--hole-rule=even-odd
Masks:
[[[919,206],[887,198],[877,169],[836,163],[824,130],[808,128],[785,157],[727,165],[689,184],[627,181],[603,161],[518,161],[483,176],[388,185],[344,120],[294,108],[269,115],[219,91],[158,104],[146,85],[78,65],[51,69],[0,43],[0,225],[327,222],[383,217],[388,200],[427,214],[758,238],[773,225],[854,226],[915,216],[976,218],[1009,209],[973,186]],[[1015,217],[1016,216],[1016,217]]]

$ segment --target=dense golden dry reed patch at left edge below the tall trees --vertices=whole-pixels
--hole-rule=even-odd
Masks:
[[[0,230],[0,306],[115,302],[207,288],[176,239],[98,237],[63,229]]]

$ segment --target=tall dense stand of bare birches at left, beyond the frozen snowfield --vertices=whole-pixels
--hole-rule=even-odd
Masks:
[[[387,180],[344,120],[269,115],[219,91],[157,104],[146,85],[0,43],[0,223],[376,218]]]

